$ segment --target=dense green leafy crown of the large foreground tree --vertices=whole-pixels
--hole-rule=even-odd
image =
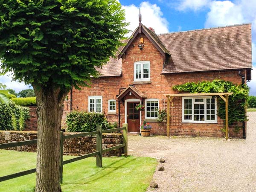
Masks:
[[[124,21],[116,0],[0,0],[1,69],[28,84],[86,86],[122,45]]]

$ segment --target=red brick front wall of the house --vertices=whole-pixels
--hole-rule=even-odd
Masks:
[[[84,87],[82,90],[73,90],[72,108],[77,110],[88,110],[88,96],[102,96],[103,112],[107,115],[109,121],[118,122],[118,102],[116,95],[119,95],[119,88],[128,87],[134,81],[134,62],[150,61],[150,80],[151,84],[134,84],[147,99],[159,99],[160,108],[166,108],[166,97],[163,94],[176,93],[172,87],[177,84],[197,81],[212,81],[216,78],[226,81],[233,81],[236,84],[241,83],[241,77],[237,71],[216,71],[202,73],[183,73],[183,74],[161,74],[163,68],[163,56],[158,52],[154,45],[143,35],[144,49],[140,50],[137,45],[140,44],[140,37],[132,42],[131,46],[122,56],[122,76],[105,77],[92,79],[91,88]],[[245,71],[242,71],[245,74]],[[125,99],[136,98],[135,96],[126,96]],[[116,99],[116,115],[108,115],[108,100]],[[218,120],[217,124],[209,123],[181,123],[181,102],[177,99],[175,109],[171,109],[171,134],[174,135],[192,135],[192,136],[215,136],[222,137],[221,132],[223,121]],[[145,103],[144,103],[145,104]],[[179,106],[178,106],[179,105]],[[121,125],[125,122],[125,105],[120,102]],[[142,112],[142,122],[145,119],[145,112]],[[166,125],[158,122],[151,122],[153,134],[166,134]],[[239,137],[242,131],[239,132]],[[232,136],[230,131],[230,136]]]

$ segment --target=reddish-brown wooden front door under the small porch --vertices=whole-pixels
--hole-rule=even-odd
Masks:
[[[140,132],[140,111],[135,106],[140,102],[127,102],[127,123],[129,132]]]

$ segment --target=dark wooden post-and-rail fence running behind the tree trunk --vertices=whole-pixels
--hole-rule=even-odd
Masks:
[[[120,145],[116,145],[110,148],[102,149],[102,134],[103,133],[111,133],[114,131],[121,131],[123,134],[123,143]],[[60,164],[59,164],[59,171],[60,171],[60,183],[62,183],[63,180],[63,165],[72,163],[78,160],[82,160],[88,157],[96,156],[96,166],[97,167],[102,167],[102,155],[105,154],[108,151],[112,151],[114,149],[118,149],[123,147],[124,148],[124,154],[128,154],[128,138],[127,138],[127,131],[128,131],[128,125],[127,123],[123,124],[123,127],[121,128],[114,128],[114,129],[107,129],[107,130],[102,130],[102,127],[97,127],[96,131],[92,132],[86,132],[86,133],[79,133],[79,134],[71,134],[71,135],[65,135],[63,134],[63,131],[61,131],[61,147],[60,147]],[[66,139],[72,139],[76,137],[84,137],[88,135],[96,135],[96,151],[93,153],[85,154],[79,157],[75,157],[73,159],[65,160],[63,161],[63,143],[64,140]],[[37,140],[28,140],[28,141],[20,141],[20,142],[15,142],[15,143],[3,143],[0,144],[0,149],[3,148],[10,148],[10,147],[18,147],[18,146],[23,146],[23,145],[32,145],[32,144],[37,144]],[[3,177],[0,177],[0,182],[13,179],[16,177],[21,177],[24,175],[29,175],[31,173],[35,173],[36,169],[29,169],[23,172],[18,172],[15,174],[11,175],[6,175]]]

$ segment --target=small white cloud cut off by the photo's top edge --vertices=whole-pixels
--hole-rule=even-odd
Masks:
[[[180,11],[188,9],[198,11],[199,9],[207,7],[209,3],[210,0],[181,0],[177,9]]]

